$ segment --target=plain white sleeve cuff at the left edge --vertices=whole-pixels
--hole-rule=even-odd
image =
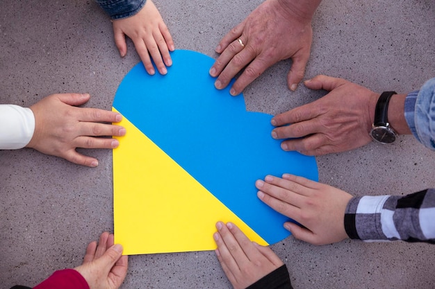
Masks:
[[[30,108],[0,105],[0,150],[24,148],[34,131],[35,116]]]

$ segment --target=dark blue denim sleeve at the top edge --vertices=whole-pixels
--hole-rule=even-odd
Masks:
[[[112,19],[122,19],[135,15],[147,0],[95,0]]]

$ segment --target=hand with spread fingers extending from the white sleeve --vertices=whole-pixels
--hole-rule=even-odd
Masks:
[[[63,157],[74,164],[98,166],[98,160],[79,154],[76,148],[116,148],[117,139],[101,136],[122,136],[125,129],[117,123],[121,114],[83,105],[89,94],[52,94],[30,108],[35,115],[35,132],[26,147],[44,154]]]

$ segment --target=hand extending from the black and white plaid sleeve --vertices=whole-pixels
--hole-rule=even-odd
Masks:
[[[336,243],[348,238],[345,211],[352,195],[327,184],[284,174],[268,175],[255,183],[258,198],[269,207],[299,222],[285,222],[295,238],[313,245]]]

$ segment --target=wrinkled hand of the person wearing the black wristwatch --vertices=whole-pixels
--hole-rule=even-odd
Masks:
[[[369,133],[379,94],[329,76],[316,76],[304,84],[309,89],[330,92],[313,103],[274,116],[271,123],[279,128],[272,130],[272,137],[288,139],[281,143],[283,150],[326,155],[359,148],[372,141]]]

